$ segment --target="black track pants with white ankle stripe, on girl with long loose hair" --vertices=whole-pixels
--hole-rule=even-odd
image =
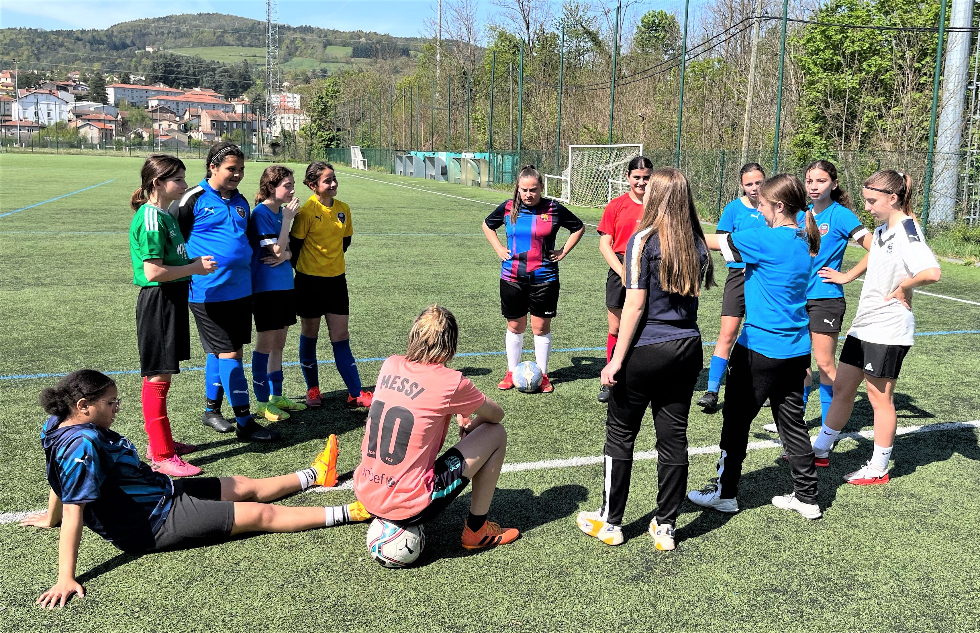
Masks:
[[[687,415],[703,362],[700,336],[636,347],[626,357],[606,418],[603,520],[622,523],[633,445],[650,407],[657,432],[657,521],[676,523],[687,490]]]

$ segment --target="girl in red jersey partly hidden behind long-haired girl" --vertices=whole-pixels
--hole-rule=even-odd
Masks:
[[[637,156],[626,166],[629,191],[613,198],[606,205],[603,219],[599,220],[599,251],[610,265],[606,275],[606,311],[610,321],[609,336],[606,338],[606,362],[613,358],[616,337],[619,335],[619,317],[626,301],[626,287],[622,285],[622,258],[626,252],[626,242],[636,229],[636,223],[643,217],[643,196],[647,192],[650,174],[654,164],[646,156]],[[602,385],[599,402],[607,403],[613,394],[612,387]]]

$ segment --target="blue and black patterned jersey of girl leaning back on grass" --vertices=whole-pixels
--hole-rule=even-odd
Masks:
[[[64,504],[85,504],[85,525],[121,550],[152,548],[171,511],[171,478],[140,462],[116,431],[61,422],[52,415],[41,430],[51,489]]]

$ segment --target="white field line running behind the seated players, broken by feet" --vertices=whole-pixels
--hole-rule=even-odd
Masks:
[[[969,422],[941,422],[939,424],[927,424],[925,426],[902,426],[896,431],[896,435],[909,435],[912,433],[930,433],[932,431],[951,431],[964,428],[980,428],[980,419],[974,419]],[[860,431],[858,433],[842,433],[841,439],[851,438],[851,439],[872,439],[874,438],[874,431]],[[749,451],[759,451],[761,449],[774,449],[781,446],[778,440],[762,440],[760,442],[750,442],[748,446]],[[688,455],[711,455],[713,453],[718,453],[717,445],[713,446],[698,446],[690,448],[687,451]],[[642,462],[648,460],[656,460],[657,451],[641,451],[639,453],[633,454],[634,462]],[[587,466],[603,463],[603,456],[589,456],[589,457],[579,457],[579,458],[567,458],[564,460],[543,460],[541,462],[523,462],[523,463],[505,463],[501,468],[501,472],[520,472],[522,470],[547,470],[551,468],[570,468],[574,466]],[[312,492],[340,492],[346,490],[352,490],[354,488],[354,481],[348,479],[347,481],[341,483],[340,485],[334,486],[333,488],[323,488],[322,486],[317,486],[306,490],[306,493]],[[0,513],[0,525],[6,523],[14,523],[25,518],[28,514],[33,514],[41,510],[33,511],[20,511],[20,512],[2,512]]]

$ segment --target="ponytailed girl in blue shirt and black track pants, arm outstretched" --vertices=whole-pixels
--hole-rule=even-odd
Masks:
[[[809,368],[807,286],[820,232],[807,212],[800,179],[780,173],[762,183],[759,209],[768,226],[708,235],[709,248],[728,262],[746,265],[746,321],[728,364],[727,402],[722,410],[717,484],[688,498],[718,511],[738,511],[738,482],[749,444],[749,426],[766,398],[793,471],[793,490],[772,505],[818,518],[816,467],[804,421],[803,387]]]

